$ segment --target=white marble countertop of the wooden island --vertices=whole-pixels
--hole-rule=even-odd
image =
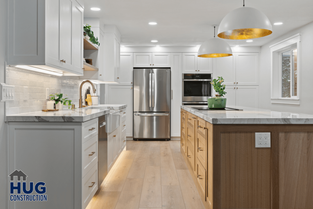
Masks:
[[[313,115],[227,105],[240,110],[196,110],[207,105],[181,105],[211,124],[313,124]]]

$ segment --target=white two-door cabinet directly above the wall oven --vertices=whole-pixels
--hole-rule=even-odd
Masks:
[[[213,73],[213,59],[197,55],[198,53],[182,53],[182,73]]]

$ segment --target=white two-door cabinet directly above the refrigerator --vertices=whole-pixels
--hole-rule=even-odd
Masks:
[[[134,68],[170,68],[171,53],[141,52],[134,53]]]

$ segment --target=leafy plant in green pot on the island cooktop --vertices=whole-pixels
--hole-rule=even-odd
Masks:
[[[216,93],[215,97],[208,98],[208,108],[209,109],[224,109],[226,107],[226,98],[223,95],[226,94],[225,85],[222,84],[224,82],[223,77],[218,77],[218,79],[213,79],[211,84],[213,84],[213,89]]]

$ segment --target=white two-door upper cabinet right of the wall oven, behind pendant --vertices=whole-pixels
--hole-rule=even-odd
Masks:
[[[213,59],[213,78],[223,77],[225,85],[259,85],[259,53],[233,53]]]

